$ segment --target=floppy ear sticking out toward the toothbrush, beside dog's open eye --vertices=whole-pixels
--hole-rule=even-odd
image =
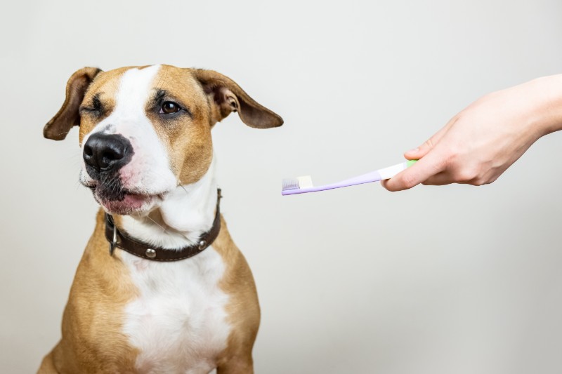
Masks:
[[[270,128],[283,124],[280,116],[250,98],[228,76],[204,69],[195,69],[194,75],[200,81],[205,93],[214,100],[214,121],[221,121],[230,112],[238,112],[242,122],[250,127]]]

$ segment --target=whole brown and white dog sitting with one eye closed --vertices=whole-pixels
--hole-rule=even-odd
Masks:
[[[210,70],[86,67],[70,77],[44,135],[62,140],[79,126],[80,182],[101,208],[70,290],[62,339],[39,373],[253,372],[256,287],[218,214],[214,177],[211,128],[230,112],[255,128],[283,123]],[[108,246],[107,227],[162,255],[200,251],[155,261],[148,248],[139,257],[119,241]],[[209,246],[202,238],[217,227]]]

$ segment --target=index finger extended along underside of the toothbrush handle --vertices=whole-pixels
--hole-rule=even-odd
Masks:
[[[436,175],[444,170],[444,163],[440,159],[440,155],[435,152],[427,154],[423,159],[414,163],[414,165],[395,175],[389,180],[384,180],[381,185],[388,191],[403,191],[410,189],[420,183],[425,182],[428,178]]]

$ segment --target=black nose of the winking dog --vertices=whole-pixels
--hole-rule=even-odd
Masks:
[[[116,171],[131,160],[131,142],[123,135],[95,133],[84,144],[84,162],[97,173]]]

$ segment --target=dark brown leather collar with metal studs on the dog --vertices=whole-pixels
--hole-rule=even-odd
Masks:
[[[110,255],[113,255],[115,247],[121,248],[123,251],[131,253],[141,258],[152,261],[177,261],[190,258],[201,253],[205,248],[210,246],[221,231],[221,212],[219,210],[221,203],[221,189],[217,190],[216,198],[216,215],[213,226],[208,232],[202,234],[198,243],[193,246],[187,246],[180,249],[165,249],[143,243],[131,238],[120,232],[115,227],[113,217],[105,213],[105,238],[110,242]]]

